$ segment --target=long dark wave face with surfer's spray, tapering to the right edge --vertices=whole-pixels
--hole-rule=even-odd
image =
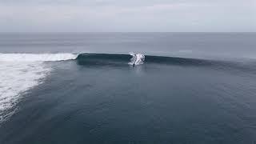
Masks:
[[[214,70],[231,70],[256,73],[255,61],[224,61],[224,60],[210,60],[199,58],[179,58],[167,57],[157,55],[143,55],[143,54],[78,54],[76,58],[80,65],[112,65],[112,66],[126,66],[145,64],[163,64],[172,66],[195,66],[204,67]]]

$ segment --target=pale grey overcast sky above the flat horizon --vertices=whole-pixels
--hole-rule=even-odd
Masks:
[[[256,32],[256,0],[0,0],[0,32]]]

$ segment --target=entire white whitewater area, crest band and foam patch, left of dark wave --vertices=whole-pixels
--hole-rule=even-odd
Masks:
[[[22,94],[50,74],[52,68],[45,62],[75,58],[77,54],[0,54],[0,122],[18,110]]]

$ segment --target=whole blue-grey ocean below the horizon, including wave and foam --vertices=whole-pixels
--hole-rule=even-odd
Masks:
[[[2,33],[0,143],[256,142],[256,33]]]

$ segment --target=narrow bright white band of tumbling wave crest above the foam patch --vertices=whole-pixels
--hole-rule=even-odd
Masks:
[[[78,54],[0,54],[0,62],[48,62],[76,59]]]

